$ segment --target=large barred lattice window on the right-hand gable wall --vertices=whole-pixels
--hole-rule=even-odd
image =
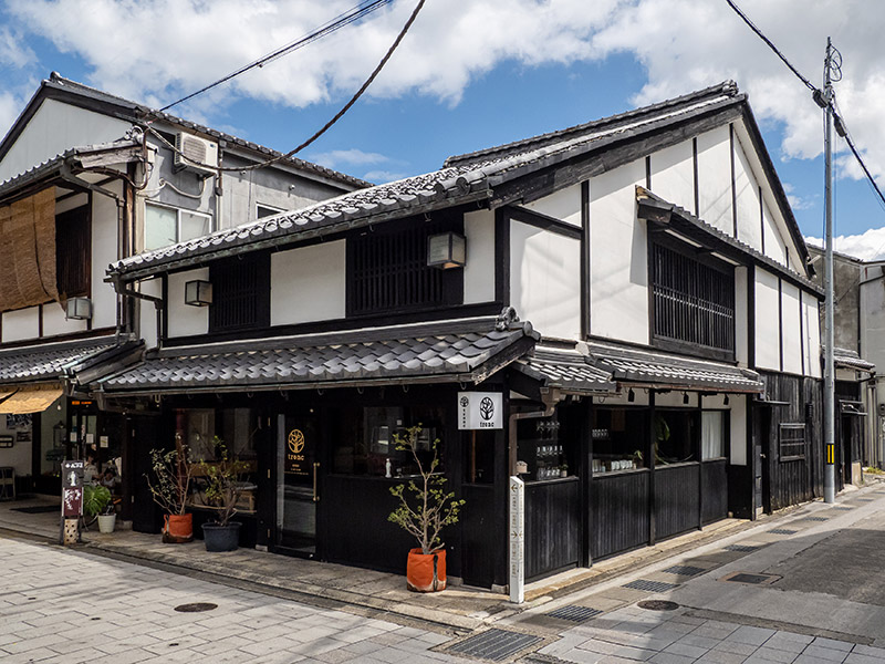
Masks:
[[[733,270],[654,243],[650,272],[656,340],[733,354]]]

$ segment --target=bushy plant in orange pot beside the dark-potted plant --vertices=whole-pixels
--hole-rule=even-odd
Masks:
[[[149,475],[145,477],[154,502],[166,512],[163,522],[164,542],[179,543],[194,539],[194,517],[185,511],[194,474],[189,456],[189,449],[180,434],[175,435],[175,449],[150,450],[154,479],[152,481]]]

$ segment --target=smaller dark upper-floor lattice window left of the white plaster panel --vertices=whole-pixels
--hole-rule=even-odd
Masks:
[[[209,331],[228,332],[270,324],[270,256],[258,253],[211,266]]]

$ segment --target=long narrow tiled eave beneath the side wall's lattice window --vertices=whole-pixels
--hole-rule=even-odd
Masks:
[[[612,378],[618,382],[677,390],[764,391],[758,373],[721,362],[602,343],[589,344],[589,353],[596,369],[611,372]]]

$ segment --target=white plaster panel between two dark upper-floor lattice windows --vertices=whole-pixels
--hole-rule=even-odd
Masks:
[[[271,255],[271,325],[344,318],[345,251],[336,240]]]

